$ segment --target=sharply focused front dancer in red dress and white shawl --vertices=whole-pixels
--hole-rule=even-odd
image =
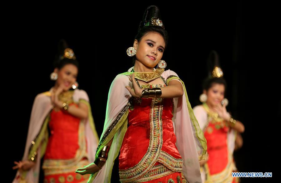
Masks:
[[[183,81],[164,70],[167,40],[158,7],[148,7],[127,50],[135,65],[111,84],[96,160],[76,171],[89,182],[110,182],[119,152],[121,182],[201,182],[206,141]]]

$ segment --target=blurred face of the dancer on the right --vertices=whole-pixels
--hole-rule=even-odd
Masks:
[[[217,106],[221,104],[221,101],[224,99],[224,84],[215,83],[210,89],[204,93],[207,95],[207,103],[211,106]]]

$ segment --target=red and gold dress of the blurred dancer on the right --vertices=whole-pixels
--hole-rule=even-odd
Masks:
[[[239,179],[232,177],[236,170],[232,153],[229,152],[227,137],[229,127],[221,118],[212,118],[212,113],[206,105],[203,105],[208,113],[204,136],[207,140],[207,152],[209,159],[205,164],[205,182],[238,182]],[[209,111],[209,112],[208,112]]]

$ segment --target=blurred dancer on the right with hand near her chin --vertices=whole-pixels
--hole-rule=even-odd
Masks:
[[[203,166],[201,176],[203,182],[237,182],[237,178],[231,175],[231,172],[237,171],[233,151],[237,135],[239,138],[237,138],[236,147],[242,146],[242,137],[239,133],[244,132],[244,125],[226,111],[228,104],[228,100],[224,99],[226,82],[218,66],[217,52],[212,51],[210,57],[212,56],[214,56],[215,64],[211,65],[215,66],[203,84],[203,94],[200,95],[200,101],[203,104],[193,109],[208,142],[209,158],[201,162]]]

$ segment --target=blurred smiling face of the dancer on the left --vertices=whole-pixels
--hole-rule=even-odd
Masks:
[[[76,82],[78,68],[73,64],[67,64],[60,70],[56,68],[55,72],[57,72],[56,85],[61,86],[64,91],[67,91]]]

